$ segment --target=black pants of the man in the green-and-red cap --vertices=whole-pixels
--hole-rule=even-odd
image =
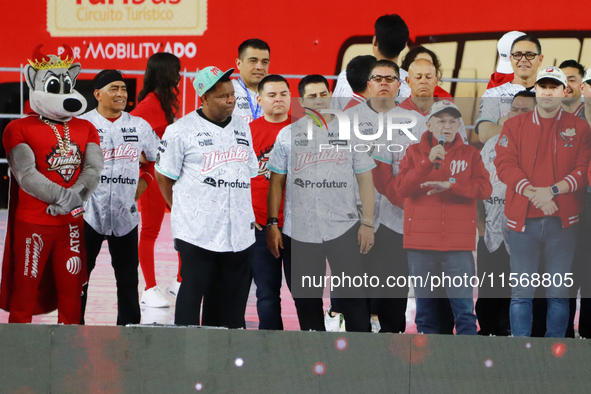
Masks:
[[[246,328],[254,244],[240,252],[212,252],[180,239],[174,243],[181,256],[183,278],[174,323],[200,325],[203,300],[202,325]]]

